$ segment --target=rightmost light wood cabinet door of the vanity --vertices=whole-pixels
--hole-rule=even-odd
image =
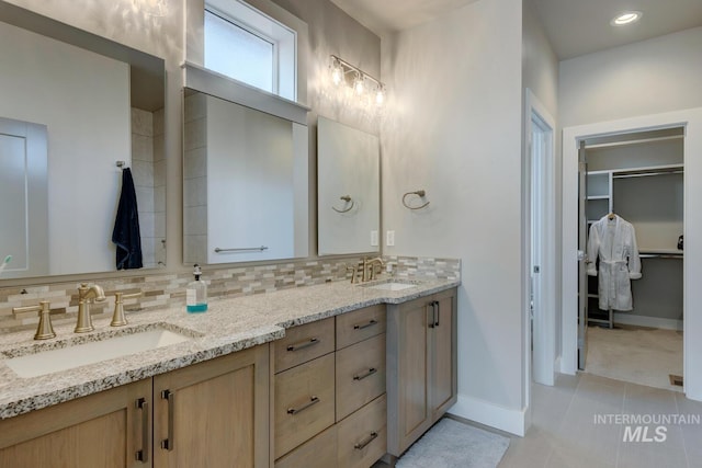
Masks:
[[[431,328],[431,411],[439,420],[456,401],[455,290],[434,296]]]

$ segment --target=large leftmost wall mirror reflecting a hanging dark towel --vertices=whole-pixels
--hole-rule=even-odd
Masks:
[[[5,2],[0,19],[0,278],[115,271],[118,161],[144,267],[165,265],[163,60]]]

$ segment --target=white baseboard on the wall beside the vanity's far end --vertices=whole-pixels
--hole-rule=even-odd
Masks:
[[[458,395],[449,413],[522,437],[526,432],[524,410],[511,410],[466,395]]]

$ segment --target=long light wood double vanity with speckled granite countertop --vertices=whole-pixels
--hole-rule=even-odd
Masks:
[[[393,461],[455,402],[457,285],[333,282],[1,335],[0,466]]]

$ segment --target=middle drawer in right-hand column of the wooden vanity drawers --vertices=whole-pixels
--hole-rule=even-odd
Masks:
[[[385,333],[337,351],[337,421],[385,392]]]

